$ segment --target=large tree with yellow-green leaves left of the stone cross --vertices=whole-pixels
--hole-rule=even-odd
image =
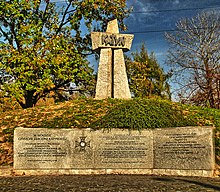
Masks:
[[[123,27],[128,12],[125,0],[0,1],[0,70],[14,79],[2,90],[28,108],[70,82],[91,88],[93,24],[102,30],[117,18]]]

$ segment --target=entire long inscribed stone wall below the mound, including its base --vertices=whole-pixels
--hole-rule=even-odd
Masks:
[[[212,127],[143,130],[16,128],[17,174],[212,176]]]

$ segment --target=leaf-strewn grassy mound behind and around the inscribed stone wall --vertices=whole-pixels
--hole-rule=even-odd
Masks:
[[[216,159],[220,164],[220,110],[160,99],[83,98],[25,110],[9,109],[0,109],[0,165],[13,163],[16,127],[146,129],[192,125],[216,127]]]

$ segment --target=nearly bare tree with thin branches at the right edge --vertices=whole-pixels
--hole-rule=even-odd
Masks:
[[[203,12],[177,23],[166,33],[170,42],[168,64],[179,83],[184,102],[220,108],[220,17]]]

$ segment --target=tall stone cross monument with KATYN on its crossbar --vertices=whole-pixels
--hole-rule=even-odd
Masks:
[[[95,99],[129,99],[123,51],[131,47],[134,35],[119,34],[117,19],[108,23],[106,33],[92,32],[92,48],[100,50]]]

